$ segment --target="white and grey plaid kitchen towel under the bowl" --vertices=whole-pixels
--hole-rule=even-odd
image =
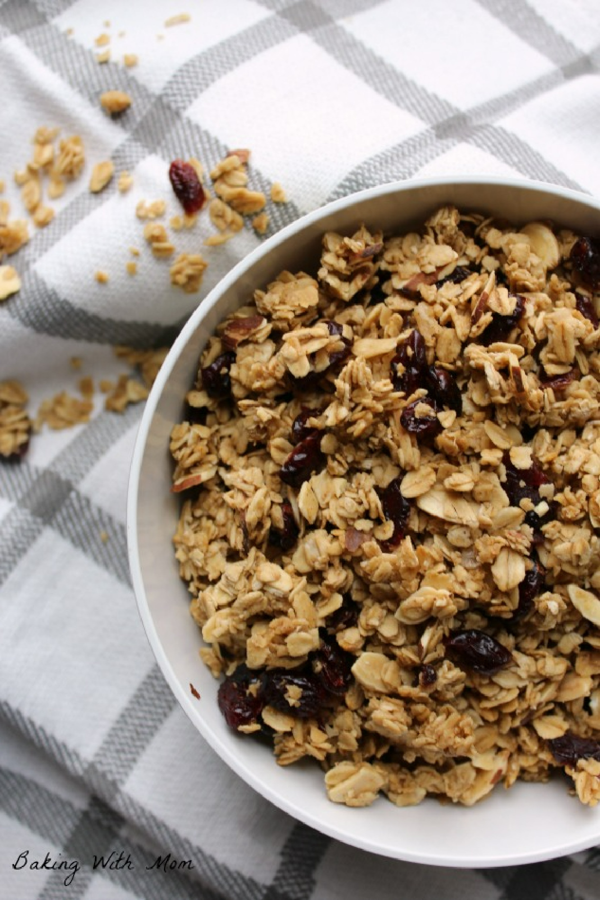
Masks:
[[[8,218],[28,220],[23,203],[34,205],[35,188],[20,196],[13,175],[40,126],[67,141],[67,171],[83,163],[68,141],[79,135],[85,164],[64,193],[54,185],[39,221],[46,207],[54,218],[30,222],[7,260],[22,287],[0,304],[0,380],[21,381],[33,412],[58,392],[80,398],[81,376],[114,381],[127,366],[113,345],[168,340],[263,239],[248,225],[202,247],[201,293],[172,286],[136,209],[166,200],[165,221],[181,212],[174,157],[210,168],[251,148],[251,186],[268,195],[281,182],[290,198],[268,202],[266,236],[412,176],[521,175],[600,193],[599,66],[597,0],[3,0]],[[108,90],[130,96],[118,118],[99,103]],[[103,160],[115,177],[90,193]],[[176,252],[197,253],[211,230],[204,214],[174,235]],[[296,824],[232,776],[176,706],[130,588],[125,495],[140,406],[119,415],[93,402],[88,424],[45,427],[21,463],[0,464],[3,900],[600,895],[598,851],[490,871],[381,860]],[[167,852],[191,866],[146,868]]]

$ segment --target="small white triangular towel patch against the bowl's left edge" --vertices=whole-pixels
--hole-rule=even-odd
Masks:
[[[130,462],[137,435],[136,423],[112,445],[79,485],[82,493],[123,525],[127,509]]]

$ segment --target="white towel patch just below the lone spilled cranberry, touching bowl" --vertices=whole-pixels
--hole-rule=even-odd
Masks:
[[[202,212],[193,229],[171,229],[169,220],[183,211],[169,182],[168,169],[165,159],[148,156],[132,173],[134,187],[129,193],[123,195],[112,187],[107,189],[112,191],[109,196],[100,194],[97,208],[36,263],[38,275],[74,306],[106,318],[166,325],[189,315],[240,254],[258,245],[258,238],[243,229],[234,238],[234,247],[204,247],[203,239],[216,231],[208,211]],[[157,259],[152,255],[144,238],[147,222],[136,216],[140,200],[166,201],[166,214],[156,221],[166,227],[175,246],[172,257]],[[139,257],[131,256],[130,247],[139,249]],[[181,253],[200,253],[209,264],[199,293],[184,293],[171,284],[169,269]],[[131,260],[137,263],[136,275],[126,270]],[[109,276],[107,284],[95,280],[99,270]]]

